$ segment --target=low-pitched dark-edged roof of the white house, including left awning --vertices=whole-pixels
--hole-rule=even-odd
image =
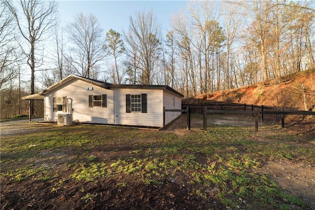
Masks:
[[[37,94],[32,94],[32,95],[28,95],[25,97],[22,97],[22,99],[25,100],[43,100],[43,95],[45,95],[47,92],[54,90],[56,88],[59,88],[60,86],[62,86],[65,82],[70,81],[72,79],[79,79],[82,81],[85,81],[87,83],[91,83],[95,86],[104,88],[104,89],[108,89],[110,90],[111,88],[126,88],[126,89],[160,89],[160,90],[168,90],[170,92],[173,92],[175,94],[177,94],[180,97],[184,97],[183,94],[181,94],[180,92],[172,89],[169,86],[166,85],[122,85],[122,84],[111,84],[111,83],[106,83],[103,81],[99,81],[99,80],[94,80],[94,79],[90,79],[87,77],[81,77],[78,75],[74,75],[71,74],[69,76],[67,76],[66,78],[64,78],[63,80],[59,81],[58,83],[55,83],[54,85],[48,87],[45,90],[40,91]],[[40,99],[39,99],[40,98]]]

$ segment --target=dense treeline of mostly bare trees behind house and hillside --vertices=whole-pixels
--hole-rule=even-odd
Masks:
[[[131,15],[124,31],[104,32],[93,14],[60,25],[55,1],[2,0],[1,118],[24,114],[21,96],[69,74],[168,85],[189,97],[314,69],[314,8],[314,1],[191,1],[166,32],[154,10]]]

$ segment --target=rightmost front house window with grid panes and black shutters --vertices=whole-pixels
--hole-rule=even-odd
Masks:
[[[147,94],[126,94],[126,112],[147,113]]]

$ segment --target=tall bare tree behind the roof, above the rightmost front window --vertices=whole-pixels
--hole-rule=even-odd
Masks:
[[[152,84],[152,72],[160,52],[160,26],[153,11],[138,12],[130,17],[128,33],[124,33],[129,56],[138,60],[140,83]]]

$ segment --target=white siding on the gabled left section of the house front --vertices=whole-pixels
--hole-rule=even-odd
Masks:
[[[86,90],[87,87],[93,87],[93,90]],[[89,107],[89,95],[107,94],[107,107]],[[80,122],[93,122],[95,123],[114,123],[114,98],[113,91],[100,88],[82,80],[73,79],[65,82],[57,90],[51,90],[45,94],[45,116],[50,120],[57,121],[58,114],[71,113],[68,109],[72,104],[73,118],[72,120],[79,120]],[[67,97],[67,112],[62,111],[53,112],[53,97],[66,96]],[[71,109],[71,107],[70,107]]]

